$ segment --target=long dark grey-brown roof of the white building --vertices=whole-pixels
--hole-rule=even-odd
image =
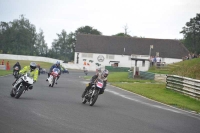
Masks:
[[[150,45],[153,45],[151,56],[155,56],[156,52],[159,52],[159,56],[163,58],[182,59],[182,57],[189,53],[184,45],[178,40],[91,34],[77,35],[75,52],[114,55],[149,55]]]

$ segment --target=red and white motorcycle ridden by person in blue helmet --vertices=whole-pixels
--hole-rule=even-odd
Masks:
[[[48,81],[49,81],[49,87],[53,87],[56,80],[57,80],[57,77],[60,73],[60,70],[58,68],[54,68],[48,78]]]

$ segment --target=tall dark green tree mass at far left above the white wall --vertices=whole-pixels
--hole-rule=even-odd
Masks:
[[[1,22],[0,49],[3,53],[33,55],[36,29],[23,15],[13,22]]]

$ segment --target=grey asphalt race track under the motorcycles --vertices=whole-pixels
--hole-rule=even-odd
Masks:
[[[0,133],[200,133],[199,115],[110,85],[94,106],[82,104],[88,81],[69,72],[53,88],[41,74],[19,99],[10,97],[14,77],[0,77]]]

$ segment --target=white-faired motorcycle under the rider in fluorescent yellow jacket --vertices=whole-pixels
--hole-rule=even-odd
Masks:
[[[30,76],[30,73],[25,73],[17,79],[16,83],[18,83],[18,85],[16,88],[12,88],[10,96],[18,99],[22,93],[28,91],[30,85],[33,85],[33,78]]]

